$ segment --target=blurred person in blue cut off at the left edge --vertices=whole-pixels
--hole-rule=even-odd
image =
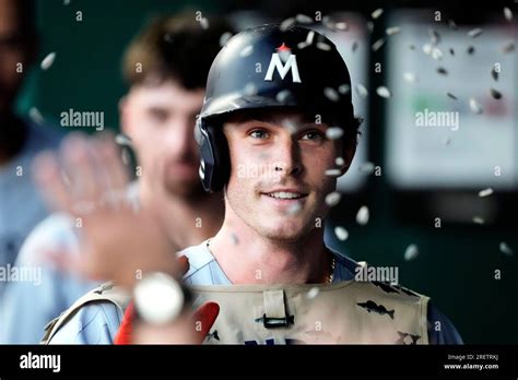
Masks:
[[[59,145],[49,126],[15,114],[16,96],[36,61],[38,37],[31,0],[0,0],[0,266],[15,271],[23,240],[47,214],[31,176],[31,162],[43,150]],[[0,281],[0,300],[9,284]],[[15,276],[12,277],[13,281]],[[33,278],[35,286],[38,278]],[[3,321],[0,319],[0,325]]]

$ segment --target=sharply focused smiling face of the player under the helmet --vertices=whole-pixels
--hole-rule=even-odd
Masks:
[[[261,119],[225,123],[227,206],[261,236],[294,241],[328,213],[325,198],[337,181],[326,170],[335,168],[340,143],[326,138],[326,124],[297,114]]]

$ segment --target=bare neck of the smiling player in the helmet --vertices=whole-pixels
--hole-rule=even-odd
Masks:
[[[210,249],[233,284],[322,283],[330,260],[323,231],[315,228],[297,241],[280,241],[260,236],[240,218],[228,217]]]

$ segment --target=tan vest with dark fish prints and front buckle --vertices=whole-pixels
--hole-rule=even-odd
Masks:
[[[385,283],[190,289],[195,308],[205,301],[220,305],[204,344],[428,344],[428,297]],[[129,301],[130,295],[104,284],[52,320],[42,343],[87,304],[113,302],[123,312]]]

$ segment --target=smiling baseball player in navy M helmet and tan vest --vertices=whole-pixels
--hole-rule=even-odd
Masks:
[[[133,294],[105,285],[85,295],[50,324],[45,342],[131,342],[134,321],[175,325],[187,305],[209,301],[219,305],[215,321],[195,318],[204,343],[462,343],[428,297],[354,281],[360,264],[323,242],[322,221],[340,197],[329,170],[345,174],[355,153],[350,88],[342,57],[316,31],[266,25],[234,36],[212,63],[197,123],[200,177],[207,191],[223,190],[223,226],[178,253],[189,263],[180,281],[157,229],[126,222],[126,235],[133,228],[138,237],[94,247],[90,270],[130,283]],[[95,245],[94,233],[86,239]],[[103,262],[122,263],[139,247],[149,247],[146,263]],[[144,265],[142,280],[128,280]],[[85,323],[85,314],[95,317]],[[120,325],[119,335],[106,325]]]

